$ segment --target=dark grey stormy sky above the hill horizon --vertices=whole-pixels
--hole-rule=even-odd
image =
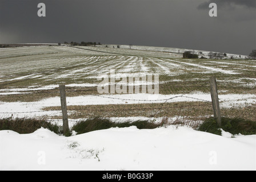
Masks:
[[[37,5],[46,5],[46,17]],[[0,0],[0,43],[101,42],[249,55],[255,0]]]

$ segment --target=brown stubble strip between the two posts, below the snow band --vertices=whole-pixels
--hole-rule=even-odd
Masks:
[[[68,106],[67,109],[70,111],[69,118],[72,119],[142,116],[174,117],[175,115],[200,117],[202,115],[210,115],[212,113],[212,105],[210,102],[209,104],[204,102],[169,102],[162,106],[161,103],[125,104],[125,101],[123,101],[123,104],[120,102],[120,104],[109,105],[78,105]],[[61,107],[45,107],[43,110],[61,110]],[[61,117],[53,117],[53,119],[61,119]]]

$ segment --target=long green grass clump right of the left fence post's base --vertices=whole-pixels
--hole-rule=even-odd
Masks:
[[[86,120],[81,120],[75,124],[71,131],[74,130],[77,134],[83,134],[95,130],[109,129],[111,127],[129,127],[137,126],[138,129],[155,129],[159,125],[153,122],[147,121],[135,121],[135,122],[123,122],[116,123],[110,121],[108,118],[89,118]]]

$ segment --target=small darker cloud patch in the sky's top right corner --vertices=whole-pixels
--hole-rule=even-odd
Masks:
[[[210,3],[216,3],[218,5],[218,7],[238,5],[238,6],[244,6],[247,8],[256,9],[256,1],[255,0],[210,0],[207,2],[201,3],[198,6],[198,9],[208,9]]]

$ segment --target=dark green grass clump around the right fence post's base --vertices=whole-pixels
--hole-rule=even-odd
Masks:
[[[207,118],[199,126],[199,131],[206,131],[216,135],[221,135],[221,129],[233,135],[253,135],[256,134],[256,122],[242,118],[222,118],[222,126],[219,127],[214,118]]]

